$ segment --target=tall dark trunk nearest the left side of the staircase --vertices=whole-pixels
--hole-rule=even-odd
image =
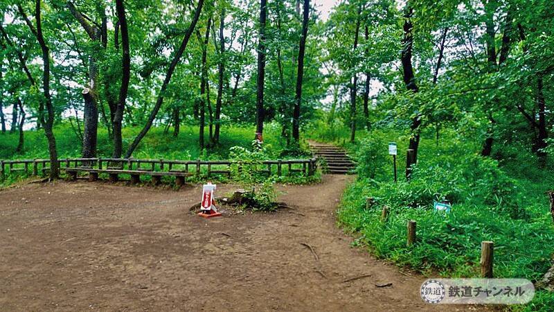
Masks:
[[[292,114],[292,137],[296,145],[300,141],[300,107],[302,103],[302,79],[304,77],[304,53],[306,49],[307,24],[310,21],[310,0],[304,0],[304,17],[302,20],[302,37],[298,49],[298,74],[296,75],[296,96]]]

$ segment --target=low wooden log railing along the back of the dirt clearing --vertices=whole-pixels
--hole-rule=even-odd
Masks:
[[[202,168],[206,168],[206,175],[224,174],[231,177],[231,166],[237,166],[240,172],[248,166],[247,170],[256,170],[268,176],[276,174],[314,175],[316,171],[316,158],[310,159],[278,159],[259,162],[241,162],[235,160],[171,160],[171,159],[134,159],[134,158],[64,158],[59,159],[60,168],[106,168],[120,170],[144,170],[157,172],[186,172],[197,176],[202,174]],[[0,177],[10,173],[24,172],[33,175],[43,175],[50,169],[50,159],[19,159],[0,160]],[[193,169],[193,171],[190,171]],[[276,169],[276,170],[274,170]]]

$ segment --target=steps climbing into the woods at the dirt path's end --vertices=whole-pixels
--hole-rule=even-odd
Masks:
[[[324,173],[346,175],[352,173],[356,164],[346,155],[346,151],[337,146],[310,142],[310,149],[316,157],[325,159]]]

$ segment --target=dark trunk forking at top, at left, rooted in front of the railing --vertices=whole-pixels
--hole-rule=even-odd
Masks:
[[[44,135],[46,135],[46,139],[48,140],[48,152],[50,154],[50,178],[57,179],[60,175],[60,164],[57,162],[56,139],[53,132],[55,110],[50,94],[50,49],[48,48],[48,44],[46,44],[46,40],[44,40],[44,35],[42,33],[40,2],[41,0],[35,1],[35,22],[37,24],[37,28],[33,26],[33,23],[31,23],[21,5],[18,5],[17,8],[21,14],[21,17],[24,18],[31,33],[33,33],[36,40],[39,42],[40,49],[42,51],[43,97],[39,101],[39,121],[42,128],[44,128]],[[46,119],[44,118],[44,107],[46,107]]]

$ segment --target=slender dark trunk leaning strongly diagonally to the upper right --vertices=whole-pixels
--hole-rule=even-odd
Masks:
[[[144,128],[141,130],[139,135],[136,136],[136,138],[133,140],[132,144],[127,149],[127,153],[125,153],[125,157],[129,158],[133,154],[134,150],[137,146],[139,146],[139,143],[141,143],[141,140],[145,135],[148,133],[148,130],[150,130],[150,127],[152,127],[152,123],[154,122],[154,119],[156,119],[156,115],[158,114],[161,104],[163,103],[163,96],[166,93],[166,89],[170,83],[171,76],[173,75],[173,72],[175,71],[175,68],[177,67],[177,64],[179,63],[179,60],[181,60],[181,56],[183,55],[186,46],[188,44],[188,40],[190,39],[190,36],[193,35],[193,31],[195,29],[196,23],[200,17],[200,12],[202,12],[202,6],[204,5],[204,0],[199,0],[196,10],[195,10],[195,16],[193,17],[193,21],[188,26],[188,29],[186,31],[185,37],[183,38],[183,41],[181,42],[181,46],[179,47],[179,50],[175,53],[173,56],[173,60],[171,61],[171,64],[168,68],[168,71],[166,73],[166,78],[163,80],[163,84],[161,85],[160,92],[158,94],[158,99],[156,101],[156,105],[154,105],[154,108],[152,109],[152,112],[150,112],[150,116],[148,117],[148,121],[144,125]],[[126,28],[126,27],[125,27]],[[127,31],[125,30],[125,33]],[[121,25],[121,37],[123,40],[123,24]]]

